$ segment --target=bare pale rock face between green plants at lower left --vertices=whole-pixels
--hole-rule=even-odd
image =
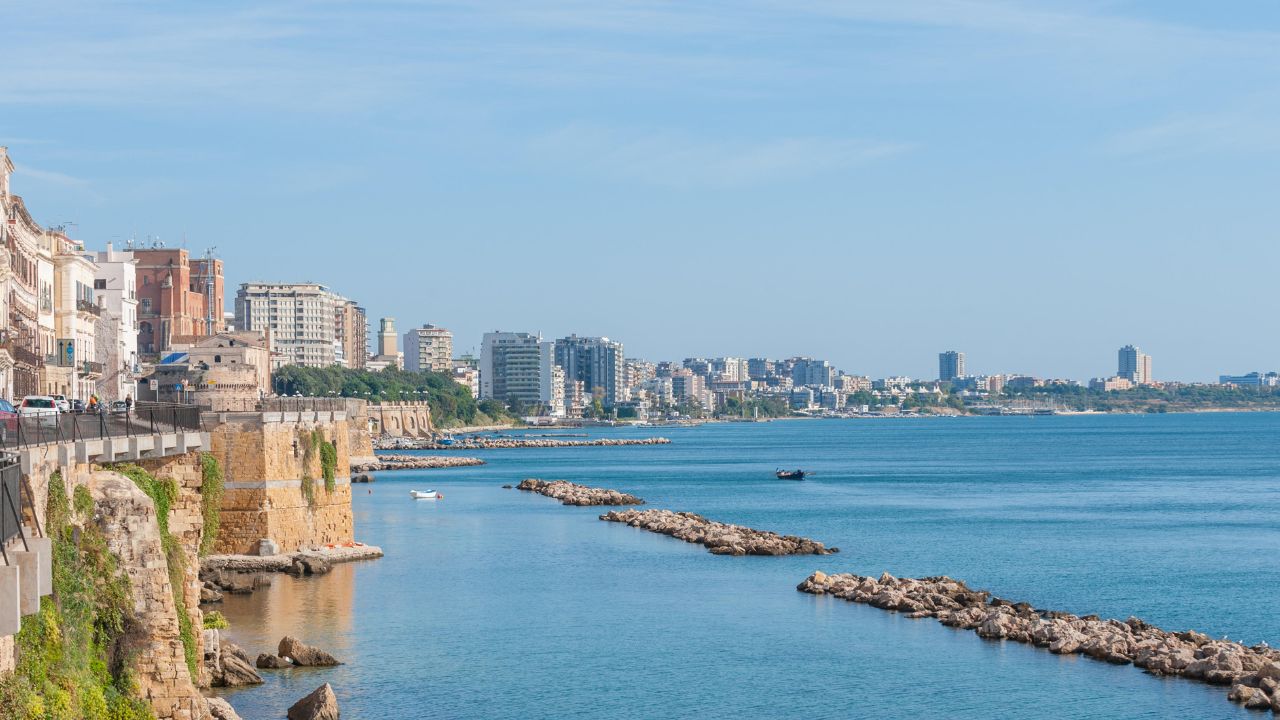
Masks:
[[[159,720],[209,717],[205,700],[188,671],[155,503],[132,479],[118,473],[93,473],[90,488],[96,509],[93,520],[129,578],[133,600],[129,625],[134,632],[128,637],[128,652],[138,692]]]

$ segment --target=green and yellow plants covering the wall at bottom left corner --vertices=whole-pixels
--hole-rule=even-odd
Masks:
[[[0,680],[3,720],[142,720],[128,667],[128,578],[92,521],[93,498],[49,483],[45,532],[52,541],[54,594],[22,619],[18,667]]]

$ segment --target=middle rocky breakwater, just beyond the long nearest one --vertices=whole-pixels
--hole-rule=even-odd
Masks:
[[[652,533],[703,544],[714,555],[831,555],[838,547],[797,536],[780,536],[742,525],[708,520],[692,512],[671,510],[611,510],[600,515],[609,523],[626,523]]]

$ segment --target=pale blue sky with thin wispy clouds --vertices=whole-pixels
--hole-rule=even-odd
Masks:
[[[0,37],[38,222],[457,352],[1280,369],[1274,0],[5,0]]]

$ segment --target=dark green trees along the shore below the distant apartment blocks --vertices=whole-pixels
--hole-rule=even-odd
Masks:
[[[357,397],[371,401],[425,400],[431,406],[431,421],[439,428],[507,423],[511,416],[500,402],[477,404],[471,391],[444,373],[408,370],[355,370],[340,368],[302,368],[288,365],[271,375],[279,395],[306,397]]]

